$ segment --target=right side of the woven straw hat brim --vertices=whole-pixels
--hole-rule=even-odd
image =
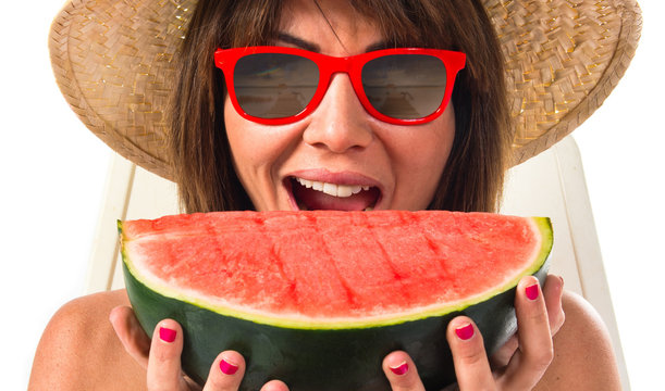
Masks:
[[[506,59],[514,164],[552,147],[607,98],[637,49],[632,0],[483,0]]]

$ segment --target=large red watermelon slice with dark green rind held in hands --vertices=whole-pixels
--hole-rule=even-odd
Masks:
[[[445,328],[459,314],[492,352],[515,332],[514,288],[546,275],[549,218],[454,212],[224,212],[119,222],[127,293],[148,331],[184,329],[199,382],[223,350],[244,389],[387,389],[402,349],[428,389],[454,381]]]

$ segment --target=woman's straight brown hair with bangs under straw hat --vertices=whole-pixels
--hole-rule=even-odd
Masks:
[[[178,58],[170,148],[187,212],[254,209],[238,180],[225,135],[224,80],[217,48],[275,38],[281,0],[199,0]],[[459,50],[467,65],[453,91],[455,141],[429,209],[497,209],[510,136],[503,58],[480,0],[354,1],[395,47]],[[375,10],[383,10],[377,13]]]

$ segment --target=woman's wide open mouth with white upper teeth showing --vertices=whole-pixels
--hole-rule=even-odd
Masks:
[[[337,185],[290,177],[287,188],[300,211],[371,211],[381,191],[375,186]]]

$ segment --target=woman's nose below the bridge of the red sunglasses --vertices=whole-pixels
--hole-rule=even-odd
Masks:
[[[303,139],[334,153],[364,149],[373,139],[371,116],[358,100],[348,75],[335,74],[323,100],[311,114]]]

